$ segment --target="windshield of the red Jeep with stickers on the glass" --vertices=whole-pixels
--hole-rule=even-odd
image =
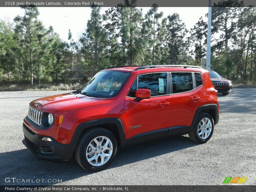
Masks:
[[[97,98],[115,97],[123,88],[131,73],[119,71],[100,71],[84,85],[79,93]]]

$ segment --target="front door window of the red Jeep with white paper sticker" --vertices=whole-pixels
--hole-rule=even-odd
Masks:
[[[152,96],[166,95],[167,73],[138,76],[138,89],[149,89]]]

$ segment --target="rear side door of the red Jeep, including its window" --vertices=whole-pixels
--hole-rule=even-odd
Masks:
[[[203,105],[198,87],[202,85],[201,75],[194,72],[172,72],[170,77],[171,114],[170,127],[190,126],[194,118],[196,108]],[[196,81],[197,79],[197,81]],[[172,132],[173,131],[173,132]],[[169,134],[175,133],[175,129],[169,129]],[[176,131],[179,131],[177,129]],[[180,130],[182,131],[182,130]]]

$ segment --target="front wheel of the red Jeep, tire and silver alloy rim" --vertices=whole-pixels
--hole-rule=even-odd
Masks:
[[[95,128],[85,132],[80,138],[75,150],[76,161],[87,171],[101,171],[113,162],[116,150],[117,141],[113,133]]]

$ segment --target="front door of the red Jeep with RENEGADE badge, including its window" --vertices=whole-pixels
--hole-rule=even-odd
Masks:
[[[171,110],[168,81],[167,72],[149,73],[137,77],[124,104],[127,139],[140,133],[168,127]],[[135,91],[138,89],[149,89],[150,99],[137,100]],[[167,135],[167,132],[168,129],[161,134]]]

